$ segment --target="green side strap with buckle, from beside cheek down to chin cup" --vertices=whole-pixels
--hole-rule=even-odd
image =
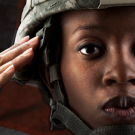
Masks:
[[[54,86],[55,97],[57,100],[57,102],[54,102],[52,99],[50,99],[51,130],[62,130],[66,127],[75,135],[88,135],[91,130],[65,106],[60,81],[60,67],[58,64],[55,64],[50,67],[50,82]]]

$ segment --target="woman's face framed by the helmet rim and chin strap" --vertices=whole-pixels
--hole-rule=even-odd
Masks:
[[[70,109],[92,128],[135,124],[135,7],[68,11],[62,18]]]

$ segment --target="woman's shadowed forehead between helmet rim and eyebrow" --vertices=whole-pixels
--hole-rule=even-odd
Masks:
[[[117,20],[117,21],[116,21]],[[98,10],[76,10],[62,13],[63,25],[81,25],[93,23],[112,25],[116,23],[130,24],[135,21],[135,7],[113,7]]]

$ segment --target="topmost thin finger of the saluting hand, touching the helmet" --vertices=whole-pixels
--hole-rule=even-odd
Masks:
[[[10,50],[12,50],[12,49],[18,47],[19,45],[21,45],[21,44],[23,44],[23,43],[25,43],[25,42],[27,42],[27,41],[29,41],[29,39],[30,39],[29,36],[26,36],[26,37],[22,38],[19,43],[16,43],[15,45],[13,45],[13,46],[11,46],[10,48],[6,49],[5,51],[1,52],[0,55],[3,55],[3,54],[5,54],[6,52],[8,52],[8,51],[10,51]]]

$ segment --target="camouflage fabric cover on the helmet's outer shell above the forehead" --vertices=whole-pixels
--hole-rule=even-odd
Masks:
[[[30,35],[48,16],[67,10],[135,5],[135,0],[27,0],[16,41]]]

